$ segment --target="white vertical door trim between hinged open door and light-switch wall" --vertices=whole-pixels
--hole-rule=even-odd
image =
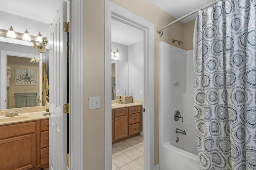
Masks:
[[[70,1],[70,170],[83,168],[83,1]]]

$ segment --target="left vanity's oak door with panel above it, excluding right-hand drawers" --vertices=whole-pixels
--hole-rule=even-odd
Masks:
[[[36,167],[36,123],[0,126],[1,170]]]

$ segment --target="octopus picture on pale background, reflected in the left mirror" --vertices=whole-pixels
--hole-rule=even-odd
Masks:
[[[15,85],[36,85],[36,69],[15,69]]]

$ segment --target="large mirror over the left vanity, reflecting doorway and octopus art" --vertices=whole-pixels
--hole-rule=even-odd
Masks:
[[[9,50],[13,50],[1,50],[0,79],[2,81],[0,82],[0,109],[23,107],[24,103],[20,101],[24,101],[26,98],[28,98],[28,104],[26,103],[27,105],[24,107],[46,105],[46,103],[42,102],[44,101],[42,99],[42,61],[45,61],[45,56],[34,52],[31,46],[6,42],[0,42],[0,45],[1,49],[9,47]],[[25,51],[26,53],[14,51]],[[33,62],[31,58],[40,61],[39,63]],[[10,79],[7,79],[7,66],[10,67]],[[9,82],[10,84],[8,84]],[[18,98],[18,95],[21,95],[23,98]],[[28,95],[28,97],[24,98],[24,95]]]

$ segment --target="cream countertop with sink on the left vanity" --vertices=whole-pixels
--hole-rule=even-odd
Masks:
[[[22,123],[27,121],[36,121],[40,119],[49,118],[49,115],[46,117],[43,113],[46,109],[49,109],[49,106],[38,106],[38,107],[22,107],[22,108],[15,108],[15,109],[3,109],[0,111],[8,111],[15,112],[16,110],[22,109],[18,111],[18,116],[15,117],[5,117],[5,113],[0,112],[0,125],[8,125],[12,123]]]

